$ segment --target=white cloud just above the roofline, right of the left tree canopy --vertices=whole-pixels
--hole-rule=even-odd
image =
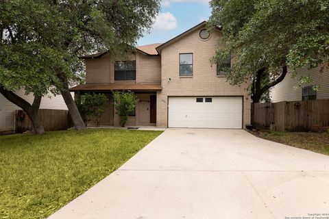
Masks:
[[[177,19],[170,12],[158,14],[152,32],[163,33],[177,28]]]

